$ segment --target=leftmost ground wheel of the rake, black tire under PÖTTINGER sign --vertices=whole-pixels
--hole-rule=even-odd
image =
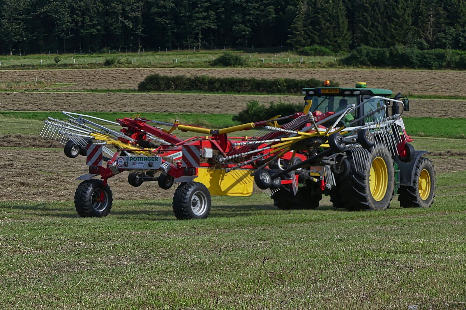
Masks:
[[[99,202],[98,199],[100,199],[102,191],[104,191],[104,201]],[[113,197],[110,186],[103,186],[102,180],[85,180],[76,188],[75,208],[82,218],[103,218],[110,213],[112,204]]]

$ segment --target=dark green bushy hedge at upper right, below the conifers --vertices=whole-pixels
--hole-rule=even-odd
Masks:
[[[388,66],[396,68],[422,69],[466,69],[466,52],[459,50],[419,50],[413,46],[377,48],[360,46],[343,64],[351,66]]]

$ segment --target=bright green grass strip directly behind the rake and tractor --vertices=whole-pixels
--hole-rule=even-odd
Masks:
[[[95,116],[102,119],[108,119],[115,121],[117,118],[123,117],[134,117],[135,113],[128,112],[80,112]],[[137,115],[138,113],[136,113]],[[0,124],[0,133],[5,132],[5,129],[14,126],[18,128],[19,133],[34,133],[41,129],[43,123],[41,120],[47,119],[47,117],[53,117],[56,119],[67,120],[68,117],[63,115],[61,112],[10,112],[0,111],[0,117],[3,117],[2,122],[5,125]],[[179,119],[181,123],[206,126],[211,128],[222,128],[233,125],[239,125],[239,122],[232,120],[232,114],[202,114],[202,113],[141,113],[140,117],[147,119],[158,120],[162,122],[173,122]],[[25,122],[24,120],[29,120]],[[404,124],[408,134],[419,137],[441,137],[450,139],[466,139],[466,119],[452,119],[452,118],[404,118]],[[8,122],[10,125],[6,125]],[[18,125],[13,125],[18,124]],[[426,126],[426,124],[429,124]],[[5,129],[2,129],[5,127]],[[28,129],[29,128],[29,129]],[[27,132],[24,132],[26,130]],[[251,131],[253,132],[253,131]],[[249,133],[249,136],[252,134]]]

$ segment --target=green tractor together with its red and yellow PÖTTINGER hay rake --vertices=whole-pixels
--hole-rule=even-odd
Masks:
[[[206,218],[211,195],[248,196],[254,183],[279,209],[315,209],[322,195],[349,210],[383,210],[396,194],[404,207],[432,204],[435,171],[425,151],[409,144],[401,118],[409,111],[406,98],[388,98],[391,91],[363,83],[302,92],[303,112],[216,130],[63,112],[69,121],[49,118],[41,135],[65,144],[70,158],[87,156],[89,173],[77,178],[83,181],[75,193],[82,217],[110,212],[107,180],[123,171],[135,187],[157,181],[167,190],[178,183],[172,204],[178,219]],[[228,136],[251,129],[252,136]],[[175,130],[196,135],[180,139]]]

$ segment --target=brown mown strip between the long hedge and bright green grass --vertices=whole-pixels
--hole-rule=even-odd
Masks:
[[[1,73],[1,72],[0,72]],[[0,111],[168,112],[237,114],[248,100],[302,104],[302,96],[171,93],[0,92]],[[411,99],[407,117],[460,117],[466,100]]]

